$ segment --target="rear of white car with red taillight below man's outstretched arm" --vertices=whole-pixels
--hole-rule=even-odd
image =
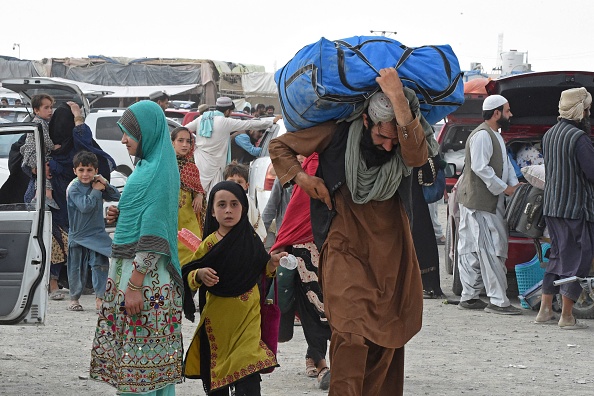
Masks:
[[[287,129],[282,119],[268,128],[260,142],[262,153],[250,164],[248,181],[250,186],[248,188],[248,194],[256,202],[260,213],[262,213],[268,203],[270,191],[272,190],[274,179],[276,179],[276,172],[274,171],[274,167],[270,161],[270,154],[268,153],[268,144],[272,139],[281,136],[285,132],[287,132]]]

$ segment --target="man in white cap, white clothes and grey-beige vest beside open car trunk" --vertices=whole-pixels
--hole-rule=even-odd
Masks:
[[[460,205],[458,270],[462,283],[460,309],[484,309],[502,315],[521,311],[507,298],[508,231],[504,194],[512,195],[518,178],[507,157],[499,130],[510,125],[509,103],[501,95],[483,102],[483,120],[466,141],[464,174],[458,185]],[[479,298],[485,288],[490,302]]]

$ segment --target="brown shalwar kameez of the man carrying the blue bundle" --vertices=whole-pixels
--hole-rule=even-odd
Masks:
[[[399,140],[404,162],[427,161],[422,128]],[[332,141],[332,123],[286,133],[269,151],[280,182],[301,170],[295,154],[322,153]],[[399,155],[399,154],[396,154]],[[332,329],[330,396],[398,395],[404,381],[404,344],[420,329],[421,274],[409,221],[398,194],[356,204],[348,187],[334,195],[336,216],[320,252],[319,277]]]

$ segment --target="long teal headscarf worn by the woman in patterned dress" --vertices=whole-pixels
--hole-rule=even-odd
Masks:
[[[140,161],[118,205],[112,257],[134,258],[136,252],[168,256],[167,269],[182,284],[177,256],[180,179],[165,114],[159,105],[144,100],[130,106],[118,126],[138,142],[136,157]]]

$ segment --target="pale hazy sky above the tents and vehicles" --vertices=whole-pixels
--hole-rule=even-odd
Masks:
[[[215,59],[273,72],[321,37],[395,31],[408,46],[450,44],[462,70],[502,49],[532,70],[594,70],[592,0],[26,0],[4,7],[0,55]],[[379,34],[378,34],[379,35]],[[20,45],[13,50],[13,44]]]

